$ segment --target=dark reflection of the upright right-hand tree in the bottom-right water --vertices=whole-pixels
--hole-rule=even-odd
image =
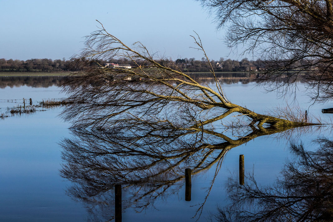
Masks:
[[[230,180],[232,203],[214,221],[333,221],[333,141],[315,142],[315,152],[291,145],[298,160],[287,163],[271,186],[260,187],[253,175],[245,186]]]

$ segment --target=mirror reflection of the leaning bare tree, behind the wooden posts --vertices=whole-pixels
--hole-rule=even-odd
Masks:
[[[213,186],[223,157],[258,136],[290,128],[248,127],[249,132],[233,140],[218,130],[184,130],[167,121],[133,118],[133,124],[117,120],[113,127],[72,128],[72,138],[61,142],[65,161],[61,175],[73,181],[68,194],[85,203],[90,219],[114,218],[114,186],[121,184],[123,212],[154,208],[156,199],[177,193],[184,185],[185,168],[192,175],[216,167],[206,197],[197,207],[198,218]],[[244,132],[243,132],[244,133]]]

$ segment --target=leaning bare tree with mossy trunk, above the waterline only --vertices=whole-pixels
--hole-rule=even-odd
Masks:
[[[201,131],[203,125],[226,118],[232,113],[249,120],[247,124],[262,127],[312,125],[302,120],[290,121],[258,114],[233,104],[224,94],[212,65],[202,47],[200,38],[194,37],[211,67],[215,79],[213,88],[195,81],[189,74],[157,61],[154,54],[140,42],[132,48],[101,30],[87,36],[86,49],[72,58],[72,65],[83,70],[68,78],[64,89],[74,101],[63,115],[80,127],[111,127],[117,119],[150,117],[161,123],[183,130]],[[118,58],[131,61],[134,68],[110,68],[101,61]]]

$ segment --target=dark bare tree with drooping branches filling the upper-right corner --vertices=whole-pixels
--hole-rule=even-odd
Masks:
[[[229,47],[245,45],[244,53],[263,60],[258,82],[285,92],[301,77],[314,89],[313,99],[333,97],[332,0],[198,1],[215,13],[218,27],[228,27]]]

